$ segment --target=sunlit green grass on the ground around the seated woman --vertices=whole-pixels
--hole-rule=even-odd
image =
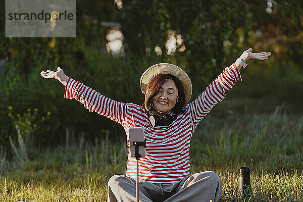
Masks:
[[[193,135],[191,173],[215,171],[223,182],[220,201],[240,201],[239,167],[248,166],[253,194],[242,201],[303,201],[302,113],[288,114],[283,106],[252,112],[245,103],[235,111],[226,101]],[[14,144],[16,154],[31,154],[23,154],[29,160],[20,168],[14,165],[21,160],[8,162],[0,150],[0,201],[107,201],[107,181],[125,174],[124,140],[113,143],[107,136],[90,143],[84,135],[73,139],[68,129],[65,136],[65,145],[54,148],[22,151]]]

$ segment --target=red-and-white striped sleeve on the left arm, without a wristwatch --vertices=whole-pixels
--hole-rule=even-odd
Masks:
[[[89,112],[96,112],[123,125],[128,104],[105,97],[85,86],[80,81],[75,81],[70,78],[65,87],[64,97],[68,99],[75,98],[82,103]]]

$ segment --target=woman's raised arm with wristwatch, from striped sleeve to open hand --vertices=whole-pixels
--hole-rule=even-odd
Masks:
[[[251,53],[248,48],[239,57],[244,63],[249,60],[267,60],[271,56],[270,52]],[[242,63],[243,64],[243,63]],[[189,113],[193,123],[193,129],[198,122],[204,118],[210,110],[225,97],[225,92],[231,89],[235,82],[242,81],[239,70],[242,65],[238,62],[226,67],[223,72],[201,93],[192,103],[188,105]]]

